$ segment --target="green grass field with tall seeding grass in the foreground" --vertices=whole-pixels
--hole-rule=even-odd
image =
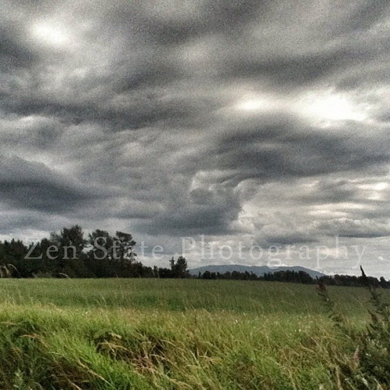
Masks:
[[[329,295],[364,329],[368,291]],[[342,389],[357,364],[313,285],[0,279],[0,305],[1,389]]]

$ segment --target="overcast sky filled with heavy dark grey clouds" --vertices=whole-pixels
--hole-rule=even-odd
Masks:
[[[1,240],[390,278],[388,0],[1,5]]]

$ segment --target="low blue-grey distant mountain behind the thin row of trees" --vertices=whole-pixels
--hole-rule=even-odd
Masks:
[[[264,274],[273,274],[274,272],[278,271],[304,271],[307,274],[309,274],[313,279],[316,277],[320,278],[322,276],[325,276],[325,274],[322,274],[321,272],[310,270],[309,268],[300,267],[300,266],[294,266],[294,267],[267,267],[266,265],[239,265],[239,264],[221,264],[221,265],[205,265],[203,267],[193,268],[190,269],[191,275],[198,275],[199,272],[203,274],[205,271],[209,272],[219,272],[220,274],[224,274],[225,272],[245,272],[248,271],[249,273],[253,272],[253,274],[257,276],[263,276]]]

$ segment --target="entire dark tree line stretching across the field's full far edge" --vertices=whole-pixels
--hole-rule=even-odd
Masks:
[[[96,229],[84,238],[81,226],[64,227],[49,238],[31,243],[21,240],[0,241],[0,277],[12,278],[190,278],[187,260],[172,257],[169,268],[147,267],[137,260],[136,242],[129,233]],[[196,278],[196,277],[193,277]],[[236,279],[282,281],[304,284],[364,286],[367,280],[350,275],[323,276],[313,279],[304,271],[276,271],[263,276],[252,272],[199,273],[198,279]],[[390,281],[368,278],[374,287],[390,288]]]

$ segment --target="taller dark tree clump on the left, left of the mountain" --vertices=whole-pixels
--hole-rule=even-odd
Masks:
[[[84,238],[79,225],[29,246],[21,240],[0,242],[0,277],[32,278],[187,278],[187,260],[170,260],[170,268],[144,266],[129,233],[111,236],[96,229]]]

